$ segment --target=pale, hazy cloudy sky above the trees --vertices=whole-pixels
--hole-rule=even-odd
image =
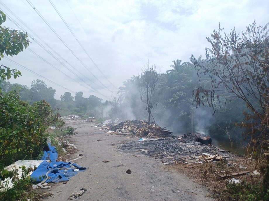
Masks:
[[[56,89],[56,99],[66,91],[70,91],[72,95],[75,95],[74,92],[82,91],[85,97],[95,95],[103,100],[109,100],[125,80],[132,75],[141,74],[141,69],[148,62],[149,65],[156,65],[158,72],[164,73],[171,69],[173,60],[189,61],[192,54],[204,57],[205,47],[210,45],[206,37],[210,36],[214,29],[218,29],[219,23],[225,32],[234,27],[237,32],[241,32],[254,20],[260,25],[269,22],[269,1],[265,0],[50,1],[30,0],[35,8],[33,9],[26,0],[0,0],[4,4],[4,6],[0,4],[0,9],[23,29],[9,19],[3,25],[27,31],[31,42],[24,52],[9,58],[54,83],[6,59],[2,59],[1,64],[22,72],[22,77],[16,80],[10,79],[11,83],[30,87],[33,80],[42,79],[49,87]],[[44,17],[76,56],[51,31],[36,11]],[[38,42],[65,66],[43,50]]]

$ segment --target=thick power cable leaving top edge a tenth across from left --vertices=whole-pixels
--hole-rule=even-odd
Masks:
[[[39,17],[41,17],[41,19],[48,25],[48,27],[51,29],[51,31],[53,31],[53,33],[61,40],[61,42],[65,45],[65,47],[68,48],[68,50],[77,58],[77,60],[92,74],[92,76],[94,76],[94,78],[100,83],[102,84],[106,89],[108,89],[93,73],[91,70],[89,70],[89,68],[87,68],[87,66],[80,60],[80,58],[75,54],[75,52],[73,52],[73,50],[71,50],[71,48],[64,42],[64,40],[61,38],[61,36],[51,27],[51,25],[49,24],[49,22],[46,21],[46,19],[42,16],[41,13],[39,13],[39,11],[37,10],[37,8],[35,8],[35,6],[29,1],[26,0],[29,5],[35,10],[35,12],[39,15]],[[108,89],[109,91],[111,91],[110,89]]]

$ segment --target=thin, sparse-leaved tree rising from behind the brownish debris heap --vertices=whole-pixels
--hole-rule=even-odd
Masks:
[[[151,110],[153,109],[154,104],[152,103],[151,98],[154,95],[155,89],[158,88],[158,82],[160,80],[160,75],[155,69],[156,66],[149,67],[149,64],[146,64],[141,71],[142,87],[139,91],[141,101],[146,103],[145,109],[148,113],[148,125],[150,125],[150,117],[153,118]]]

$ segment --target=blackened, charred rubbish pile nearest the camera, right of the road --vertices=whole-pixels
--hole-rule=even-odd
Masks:
[[[197,136],[201,137],[201,135],[194,133],[169,139],[142,138],[120,144],[122,144],[121,149],[124,151],[146,153],[154,158],[162,159],[163,163],[167,164],[177,161],[184,163],[208,163],[232,157],[229,151],[199,142],[199,137]]]

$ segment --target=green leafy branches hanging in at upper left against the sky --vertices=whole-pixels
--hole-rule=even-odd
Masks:
[[[3,22],[6,22],[6,15],[0,10],[0,61],[6,56],[17,55],[23,52],[23,48],[27,48],[29,40],[27,39],[27,33],[21,31],[2,27]],[[5,65],[0,66],[0,78],[2,80],[10,79],[13,76],[15,79],[21,76],[19,70],[11,69]]]

